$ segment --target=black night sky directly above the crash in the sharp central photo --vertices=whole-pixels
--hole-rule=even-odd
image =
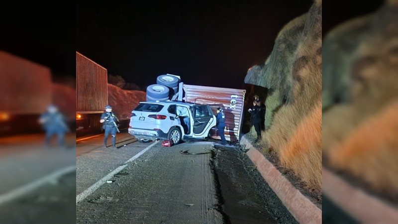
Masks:
[[[96,1],[97,2],[97,1]],[[161,74],[192,85],[242,88],[279,30],[311,0],[77,3],[77,50],[140,86]],[[120,3],[123,2],[123,3]]]

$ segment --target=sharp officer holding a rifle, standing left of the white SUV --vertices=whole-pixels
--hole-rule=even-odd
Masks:
[[[112,135],[112,146],[116,146],[116,122],[119,122],[115,114],[112,112],[112,107],[106,105],[105,112],[102,113],[100,122],[103,123],[102,128],[105,130],[105,137],[103,139],[103,144],[106,148],[106,142],[108,140],[109,134]]]

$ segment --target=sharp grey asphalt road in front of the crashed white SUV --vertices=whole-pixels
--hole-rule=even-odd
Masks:
[[[78,224],[255,224],[293,219],[264,203],[278,204],[275,194],[268,199],[259,192],[246,171],[252,164],[241,160],[243,153],[228,151],[235,151],[232,148],[215,149],[211,142],[162,147],[161,142],[141,143],[127,133],[118,134],[117,146],[122,147],[104,148],[102,138],[77,143]],[[180,153],[185,150],[209,153]]]

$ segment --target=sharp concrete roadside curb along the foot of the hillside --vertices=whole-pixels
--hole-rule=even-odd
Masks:
[[[302,195],[245,136],[242,136],[240,144],[246,145],[246,149],[249,148],[246,154],[256,169],[299,223],[322,223],[322,210]]]

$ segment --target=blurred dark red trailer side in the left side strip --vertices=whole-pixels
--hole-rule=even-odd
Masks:
[[[51,104],[51,70],[0,51],[0,102],[0,112],[44,112]]]

